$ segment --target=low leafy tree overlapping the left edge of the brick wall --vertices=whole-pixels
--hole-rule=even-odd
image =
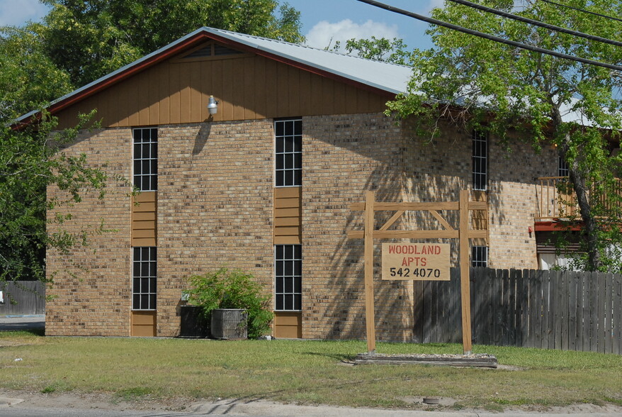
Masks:
[[[71,143],[89,116],[83,116],[77,128],[53,132],[57,122],[44,115],[37,130],[13,130],[0,126],[0,281],[45,279],[45,250],[62,253],[85,244],[91,233],[103,225],[70,233],[62,226],[47,233],[52,223],[62,225],[71,214],[48,217],[47,211],[81,201],[81,194],[95,190],[103,198],[108,177],[90,167],[86,155],[67,156],[60,149]],[[46,187],[66,191],[67,199],[47,199]]]

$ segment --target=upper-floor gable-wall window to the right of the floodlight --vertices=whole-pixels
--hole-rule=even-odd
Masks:
[[[276,187],[302,185],[302,119],[274,121]]]

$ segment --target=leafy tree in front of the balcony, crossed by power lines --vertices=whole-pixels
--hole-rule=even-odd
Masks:
[[[481,0],[480,4],[582,33],[621,40],[622,23],[566,9],[543,1]],[[567,6],[620,16],[621,1],[567,0]],[[432,11],[434,18],[502,38],[555,50],[575,57],[622,64],[615,45],[528,25],[492,13],[446,1]],[[408,94],[390,104],[397,116],[418,115],[433,131],[434,119],[452,115],[466,128],[489,130],[508,141],[521,130],[534,148],[558,146],[570,169],[582,221],[582,251],[586,270],[622,271],[622,260],[611,248],[622,243],[621,196],[615,178],[621,155],[622,127],[619,73],[594,65],[521,50],[492,40],[435,26],[428,30],[435,48],[414,54]],[[456,109],[462,109],[456,115]],[[574,203],[574,202],[573,202]]]

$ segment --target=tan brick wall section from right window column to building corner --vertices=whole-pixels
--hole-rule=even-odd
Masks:
[[[368,190],[402,198],[400,128],[360,114],[305,117],[302,131],[302,336],[365,338],[363,241],[346,238],[363,213],[349,205]],[[409,340],[412,286],[381,281],[378,268],[374,284],[378,340]]]

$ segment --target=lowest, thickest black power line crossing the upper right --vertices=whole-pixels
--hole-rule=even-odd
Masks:
[[[392,11],[394,13],[403,14],[404,16],[416,18],[420,21],[431,23],[433,25],[443,26],[444,28],[457,30],[458,32],[462,32],[462,33],[468,33],[469,35],[478,36],[480,38],[484,38],[487,40],[494,40],[494,42],[504,43],[505,45],[514,46],[515,48],[531,50],[533,52],[539,52],[545,55],[551,55],[553,57],[562,58],[564,60],[570,60],[570,61],[575,61],[575,62],[582,62],[584,64],[595,65],[596,67],[609,68],[609,70],[622,71],[622,66],[620,65],[613,65],[613,64],[607,64],[606,62],[588,60],[587,58],[575,57],[572,55],[563,54],[561,52],[555,52],[553,50],[538,48],[537,46],[527,45],[526,43],[514,42],[514,40],[500,38],[499,36],[489,35],[488,33],[478,32],[477,30],[463,28],[462,26],[454,25],[453,23],[439,21],[438,19],[435,19],[435,18],[429,18],[427,16],[422,16],[417,13],[412,13],[411,11],[398,9],[397,7],[389,6],[388,4],[383,4],[383,3],[380,3],[379,1],[374,1],[374,0],[357,0],[357,1],[361,1],[361,3],[366,3],[366,4],[369,4],[370,6],[375,6],[380,9]]]

